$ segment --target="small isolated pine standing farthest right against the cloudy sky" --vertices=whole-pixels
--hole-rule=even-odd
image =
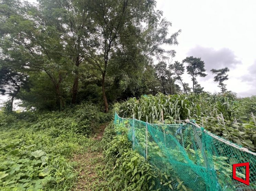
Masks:
[[[211,69],[211,72],[213,74],[216,74],[216,76],[214,76],[214,81],[219,82],[219,86],[221,88],[221,92],[222,94],[227,90],[226,89],[226,84],[223,84],[223,81],[228,80],[229,78],[227,76],[226,73],[229,72],[229,68],[225,67],[222,69]]]

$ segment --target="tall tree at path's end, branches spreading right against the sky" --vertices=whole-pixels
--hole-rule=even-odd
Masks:
[[[164,53],[173,55],[174,51],[165,51],[161,46],[177,44],[178,33],[167,37],[171,23],[161,19],[162,12],[155,10],[154,0],[91,0],[89,4],[97,29],[94,36],[97,39],[97,46],[91,51],[87,61],[101,73],[102,97],[105,112],[108,112],[105,78],[116,51],[124,52],[127,48],[139,47],[148,57]],[[134,47],[127,46],[129,43]]]

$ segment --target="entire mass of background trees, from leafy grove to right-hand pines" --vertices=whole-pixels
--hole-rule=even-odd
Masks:
[[[1,91],[27,109],[90,101],[108,112],[116,100],[190,92],[187,69],[193,92],[202,93],[200,58],[166,62],[181,32],[170,27],[156,1],[1,1]]]

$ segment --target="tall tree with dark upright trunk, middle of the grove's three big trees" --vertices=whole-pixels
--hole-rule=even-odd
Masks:
[[[88,1],[40,0],[39,3],[44,22],[57,28],[65,46],[63,51],[73,61],[70,66],[74,74],[71,103],[75,104],[79,87],[80,65],[85,63],[85,57],[88,56],[91,47],[94,45],[94,39],[90,37],[94,34],[95,28],[90,17]]]

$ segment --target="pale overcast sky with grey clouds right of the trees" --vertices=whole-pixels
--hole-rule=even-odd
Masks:
[[[170,33],[181,29],[174,61],[200,57],[208,76],[198,78],[205,91],[220,92],[212,68],[229,67],[227,89],[238,96],[256,95],[255,0],[158,0],[157,9],[172,22]],[[191,83],[191,77],[183,79]]]

